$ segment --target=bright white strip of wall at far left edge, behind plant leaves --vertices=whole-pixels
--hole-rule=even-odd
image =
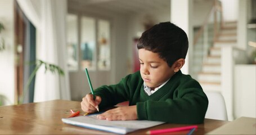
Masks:
[[[0,1],[0,22],[5,26],[0,37],[5,39],[6,49],[0,51],[0,95],[4,95],[11,102],[5,105],[14,104],[14,1]]]

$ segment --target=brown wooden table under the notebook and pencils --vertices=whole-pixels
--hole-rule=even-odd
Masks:
[[[23,105],[0,106],[0,134],[113,134],[62,123],[61,118],[67,118],[70,115],[70,109],[83,113],[78,101],[53,100]],[[208,133],[226,123],[228,122],[205,119],[204,124],[199,124],[194,134]],[[181,126],[185,125],[162,124],[149,129]],[[149,129],[141,129],[130,134],[146,134]],[[186,133],[187,131],[174,134]]]

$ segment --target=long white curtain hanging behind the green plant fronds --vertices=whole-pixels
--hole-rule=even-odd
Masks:
[[[35,78],[34,102],[70,100],[69,74],[66,66],[66,0],[17,0],[21,10],[37,28],[37,59],[64,69],[65,76],[44,73],[41,67]]]

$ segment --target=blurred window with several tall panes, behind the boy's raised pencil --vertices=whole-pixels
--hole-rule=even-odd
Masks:
[[[70,71],[110,70],[110,21],[68,14],[67,36]]]

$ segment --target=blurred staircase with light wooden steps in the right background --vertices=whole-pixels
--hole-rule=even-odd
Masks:
[[[204,91],[222,92],[221,89],[221,46],[236,44],[237,22],[226,22],[203,61],[197,80]]]

